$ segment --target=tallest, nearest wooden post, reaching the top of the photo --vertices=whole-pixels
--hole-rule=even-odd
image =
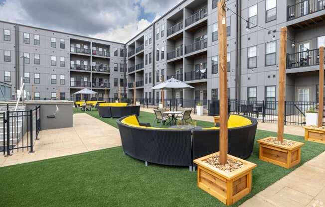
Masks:
[[[219,90],[220,90],[220,164],[228,160],[228,98],[227,98],[227,24],[225,0],[218,1]]]

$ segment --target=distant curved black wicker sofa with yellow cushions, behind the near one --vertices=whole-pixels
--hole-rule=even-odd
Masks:
[[[98,113],[100,117],[104,118],[120,118],[140,114],[140,105],[121,106],[121,104],[100,104],[98,106]]]

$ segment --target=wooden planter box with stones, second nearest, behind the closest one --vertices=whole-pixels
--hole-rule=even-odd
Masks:
[[[304,143],[296,142],[293,146],[281,146],[265,142],[272,137],[260,139],[260,160],[279,165],[284,168],[292,168],[301,161],[301,147]]]

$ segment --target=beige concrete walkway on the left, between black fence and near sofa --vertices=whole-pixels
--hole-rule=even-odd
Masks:
[[[86,113],[73,115],[73,127],[42,130],[34,145],[34,153],[14,151],[0,156],[0,167],[73,155],[121,145],[117,128]]]

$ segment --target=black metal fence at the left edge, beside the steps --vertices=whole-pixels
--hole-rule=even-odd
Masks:
[[[0,114],[2,145],[0,151],[9,156],[14,151],[34,152],[35,140],[40,131],[40,105],[30,110],[10,111]]]

